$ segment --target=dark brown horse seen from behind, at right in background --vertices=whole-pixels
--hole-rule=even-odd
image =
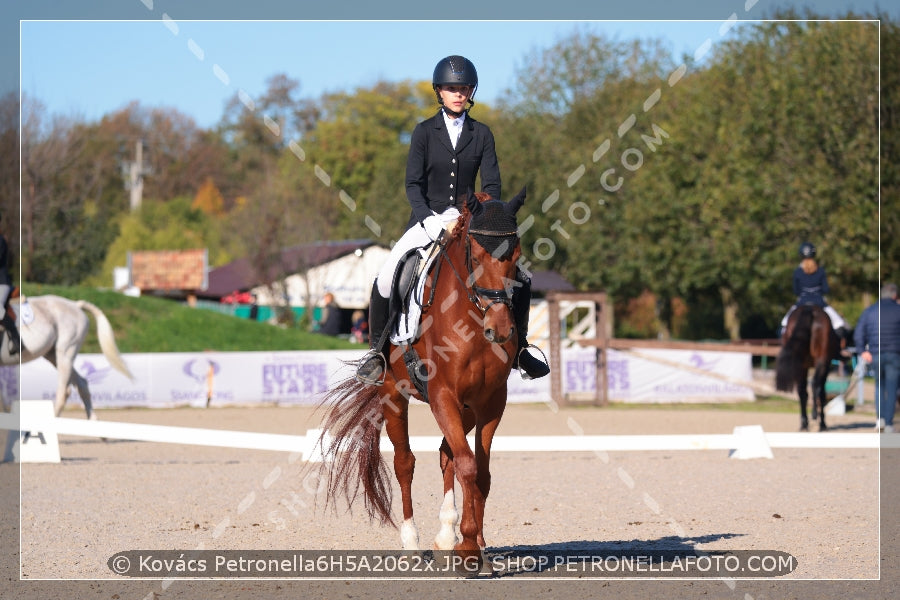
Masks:
[[[819,431],[825,425],[825,380],[831,361],[840,359],[841,341],[831,327],[825,311],[812,304],[797,307],[788,318],[781,338],[781,350],[775,361],[775,388],[782,392],[797,389],[800,396],[800,431],[809,431],[806,417],[807,375],[814,369],[812,418],[819,419]]]

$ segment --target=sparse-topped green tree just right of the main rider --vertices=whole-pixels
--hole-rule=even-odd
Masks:
[[[644,269],[664,268],[652,256],[653,229],[628,224],[636,198],[631,184],[616,181],[634,179],[621,164],[623,152],[655,152],[643,139],[655,134],[642,105],[673,64],[656,40],[620,42],[583,29],[526,59],[515,101],[501,104],[506,118],[497,138],[504,180],[512,172],[530,190],[526,210],[534,224],[524,244],[533,268],[556,269],[580,289],[617,297],[639,296],[647,286]],[[640,119],[618,135],[630,115]]]

